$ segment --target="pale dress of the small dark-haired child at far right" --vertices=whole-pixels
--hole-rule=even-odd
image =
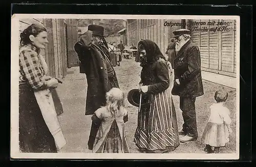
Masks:
[[[222,103],[210,106],[210,117],[204,129],[202,140],[206,145],[224,147],[229,142],[227,125],[231,124],[230,111]]]

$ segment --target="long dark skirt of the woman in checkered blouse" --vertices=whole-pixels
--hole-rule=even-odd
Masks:
[[[57,153],[33,90],[19,85],[19,149],[29,153]]]

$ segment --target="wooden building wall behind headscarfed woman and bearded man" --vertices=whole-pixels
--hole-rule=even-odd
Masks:
[[[234,31],[200,32],[182,24],[173,27],[164,26],[165,21],[181,23],[188,22],[189,20],[129,19],[127,20],[127,44],[137,47],[140,39],[150,39],[159,46],[164,54],[169,40],[173,37],[173,31],[187,28],[190,29],[191,40],[199,46],[202,70],[236,77],[236,29]],[[191,21],[229,21],[232,23],[227,28],[236,27],[235,20],[207,19]],[[215,28],[216,25],[199,26],[198,28],[203,27],[207,27],[209,30],[210,28]],[[222,28],[223,26],[219,27]]]

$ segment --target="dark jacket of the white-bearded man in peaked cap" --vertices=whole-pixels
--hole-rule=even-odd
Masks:
[[[175,80],[172,93],[180,97],[199,97],[204,94],[201,76],[201,60],[198,46],[190,39],[174,59]]]

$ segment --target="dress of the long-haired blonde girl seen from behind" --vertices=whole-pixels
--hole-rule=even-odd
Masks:
[[[127,118],[127,110],[121,107],[116,115],[107,107],[101,107],[95,111],[92,119],[101,120],[101,125],[95,137],[93,153],[130,153],[127,144],[124,120]]]

